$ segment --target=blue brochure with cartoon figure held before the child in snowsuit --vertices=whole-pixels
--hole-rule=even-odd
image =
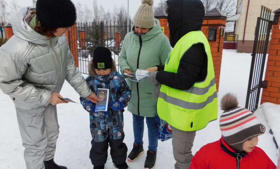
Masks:
[[[99,101],[95,106],[95,112],[107,112],[109,101],[109,89],[98,88],[97,98],[99,99]]]

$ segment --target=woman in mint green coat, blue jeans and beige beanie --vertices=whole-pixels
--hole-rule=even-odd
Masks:
[[[122,73],[135,74],[136,69],[148,69],[155,65],[164,65],[171,46],[160,28],[160,21],[154,18],[152,0],[142,0],[142,5],[135,14],[132,31],[123,41],[119,56],[119,65]],[[139,83],[127,79],[132,90],[132,98],[128,104],[128,111],[133,115],[134,144],[129,161],[134,161],[144,152],[143,132],[144,117],[148,127],[149,147],[145,166],[152,168],[157,151],[157,124],[156,101],[152,98],[154,85],[143,78]]]

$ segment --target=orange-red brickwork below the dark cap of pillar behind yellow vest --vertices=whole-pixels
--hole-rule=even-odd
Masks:
[[[201,28],[201,31],[208,39],[209,27],[217,27],[216,41],[209,41],[212,59],[213,59],[213,65],[214,65],[217,92],[219,91],[219,85],[220,85],[221,62],[222,62],[222,54],[223,54],[223,47],[224,47],[224,37],[220,38],[220,26],[217,25],[225,25],[225,22],[226,22],[225,20],[221,20],[221,19],[204,20]]]

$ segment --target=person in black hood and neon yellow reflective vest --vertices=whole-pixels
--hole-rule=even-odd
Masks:
[[[173,49],[164,66],[146,70],[155,84],[158,116],[172,126],[175,169],[188,169],[196,131],[217,119],[217,88],[209,42],[201,32],[202,2],[168,0],[167,6]]]

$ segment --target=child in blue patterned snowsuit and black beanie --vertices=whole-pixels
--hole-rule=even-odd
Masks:
[[[86,78],[91,91],[97,94],[97,88],[109,89],[107,112],[95,112],[95,103],[80,98],[83,108],[90,113],[90,130],[92,135],[90,159],[94,169],[103,169],[108,157],[108,143],[115,167],[127,169],[125,162],[127,146],[124,140],[124,107],[131,98],[124,77],[116,71],[111,52],[104,47],[97,47],[93,59],[88,65],[89,75]]]

